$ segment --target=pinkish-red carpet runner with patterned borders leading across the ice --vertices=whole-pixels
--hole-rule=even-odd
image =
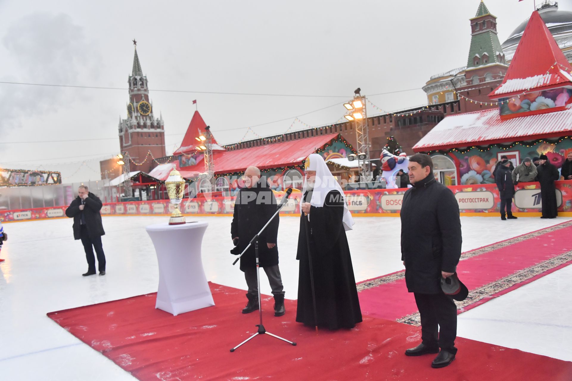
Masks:
[[[463,253],[457,267],[469,296],[457,302],[459,313],[572,263],[572,222],[497,242]],[[358,284],[363,314],[418,324],[417,306],[407,292],[404,271]]]

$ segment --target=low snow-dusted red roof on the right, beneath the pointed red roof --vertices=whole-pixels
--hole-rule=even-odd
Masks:
[[[455,147],[560,137],[572,133],[572,108],[553,113],[501,119],[498,110],[450,115],[433,127],[413,150],[435,151]]]

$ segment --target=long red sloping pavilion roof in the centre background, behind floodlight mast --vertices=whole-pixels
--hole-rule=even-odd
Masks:
[[[215,151],[213,152],[215,173],[243,172],[249,166],[270,169],[300,165],[309,154],[324,147],[338,136],[339,134],[328,134],[242,150]],[[182,171],[185,173],[204,172],[204,161],[201,160],[194,166],[183,167]]]

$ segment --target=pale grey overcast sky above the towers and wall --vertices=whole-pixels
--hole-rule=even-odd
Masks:
[[[426,103],[421,87],[431,75],[467,64],[468,19],[479,3],[0,0],[0,81],[126,89],[135,38],[170,154],[193,99],[222,144],[279,119],[253,130],[283,133],[297,115],[312,126],[335,122],[356,87],[365,95],[415,89],[369,98],[389,111]],[[533,10],[533,0],[485,3],[501,43]],[[572,10],[570,0],[560,5]],[[98,161],[119,151],[127,102],[127,90],[0,83],[0,143],[39,142],[0,144],[0,166],[59,170],[65,182],[98,179]]]

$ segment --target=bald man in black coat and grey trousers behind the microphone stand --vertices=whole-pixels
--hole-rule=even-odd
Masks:
[[[260,170],[248,167],[244,173],[247,187],[239,191],[235,199],[235,212],[231,223],[231,237],[236,242],[231,252],[240,254],[248,246],[277,209],[276,198],[270,189],[266,178],[260,177]],[[259,264],[268,276],[268,282],[274,295],[274,316],[282,316],[284,308],[284,287],[278,267],[278,235],[279,216],[276,216],[259,237]],[[256,278],[256,255],[254,244],[240,258],[240,270],[248,285],[248,304],[243,314],[256,311],[259,308],[258,282]]]

